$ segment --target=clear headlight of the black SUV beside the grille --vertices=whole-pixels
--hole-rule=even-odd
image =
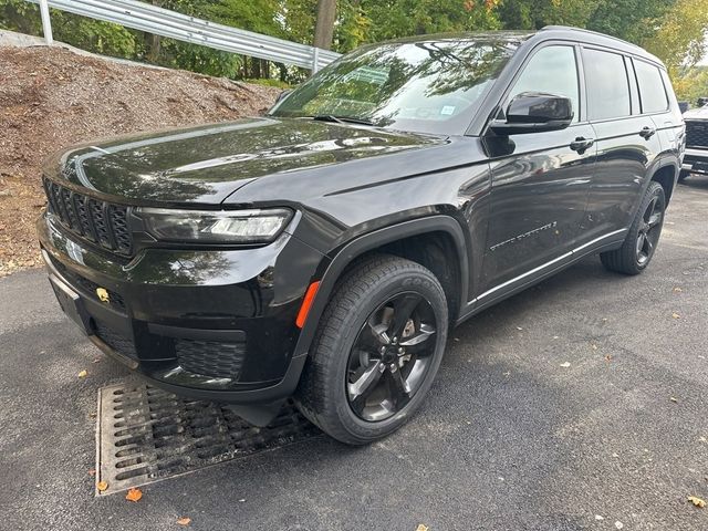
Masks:
[[[267,243],[292,216],[285,208],[263,210],[175,210],[140,208],[150,235],[159,240],[197,243]]]

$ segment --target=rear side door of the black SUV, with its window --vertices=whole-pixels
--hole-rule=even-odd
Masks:
[[[659,72],[654,69],[664,91]],[[649,100],[646,90],[641,93],[637,88],[633,61],[628,58],[583,49],[583,70],[587,112],[597,146],[583,231],[586,241],[605,236],[616,239],[632,225],[648,166],[660,152],[656,124],[649,114],[642,113],[641,105],[644,103],[648,110],[657,103]],[[664,111],[668,108],[666,93],[660,105]]]

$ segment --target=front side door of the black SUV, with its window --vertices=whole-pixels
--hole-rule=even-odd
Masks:
[[[480,299],[503,294],[502,288],[518,285],[513,281],[535,268],[552,267],[577,241],[595,158],[579,79],[574,46],[538,50],[501,108],[522,92],[550,93],[571,98],[573,123],[561,131],[485,139],[492,185]]]

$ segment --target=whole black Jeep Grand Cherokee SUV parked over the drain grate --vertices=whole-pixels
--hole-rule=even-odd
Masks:
[[[254,424],[283,400],[366,444],[448,330],[600,253],[642,272],[684,124],[644,50],[571,29],[362,48],[261,118],[75,147],[39,233],[102,351]]]

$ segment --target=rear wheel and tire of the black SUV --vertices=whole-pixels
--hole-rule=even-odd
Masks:
[[[664,188],[656,181],[649,183],[622,247],[600,253],[603,266],[610,271],[624,274],[639,274],[644,271],[656,251],[665,210]]]

